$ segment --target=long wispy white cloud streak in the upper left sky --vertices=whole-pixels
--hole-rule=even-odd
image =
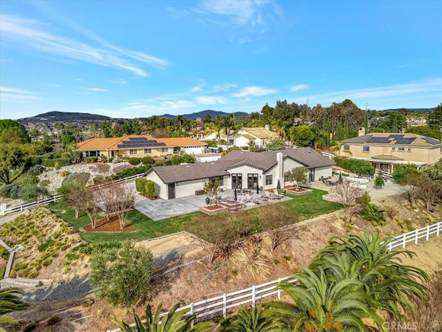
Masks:
[[[15,42],[21,46],[35,48],[44,53],[61,55],[62,57],[77,59],[99,66],[124,69],[141,77],[147,76],[148,73],[137,64],[131,63],[131,59],[152,66],[164,67],[169,64],[169,62],[164,59],[113,46],[104,41],[104,39],[91,33],[86,32],[84,35],[94,39],[95,42],[99,42],[104,48],[91,46],[84,42],[77,42],[68,37],[53,35],[46,31],[47,26],[32,19],[1,15],[0,20],[2,38],[8,38],[11,42]]]

